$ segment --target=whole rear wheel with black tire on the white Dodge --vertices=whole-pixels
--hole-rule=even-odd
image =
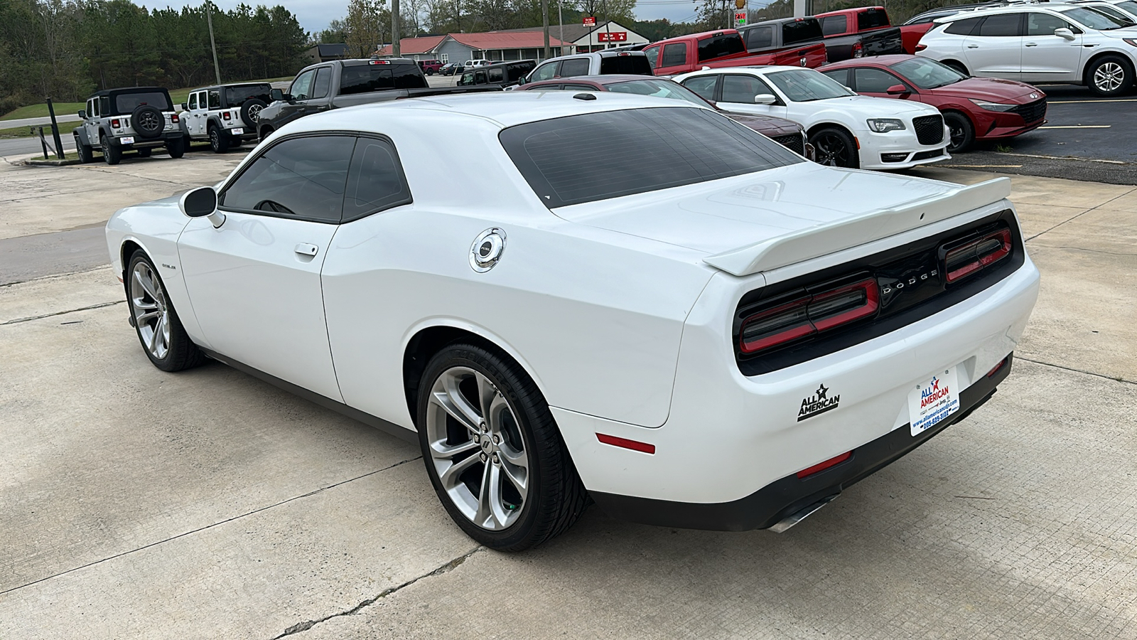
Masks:
[[[567,530],[588,494],[537,385],[496,351],[451,344],[418,386],[418,442],[434,492],[480,544],[522,551]]]

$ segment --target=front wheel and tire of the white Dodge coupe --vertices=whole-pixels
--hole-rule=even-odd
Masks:
[[[126,292],[134,333],[155,367],[181,371],[205,361],[205,354],[190,339],[174,304],[166,297],[161,276],[142,249],[134,252],[127,263]]]

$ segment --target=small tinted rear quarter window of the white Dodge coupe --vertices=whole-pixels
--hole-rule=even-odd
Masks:
[[[407,187],[395,146],[377,138],[359,138],[348,172],[343,221],[409,204]]]

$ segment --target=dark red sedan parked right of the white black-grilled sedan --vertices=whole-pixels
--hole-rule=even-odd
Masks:
[[[1013,80],[969,77],[936,60],[878,56],[819,68],[857,93],[931,105],[952,132],[948,153],[976,140],[1013,138],[1046,122],[1046,93]]]

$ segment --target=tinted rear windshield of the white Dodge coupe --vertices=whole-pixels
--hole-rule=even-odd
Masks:
[[[499,138],[549,208],[804,162],[765,136],[690,107],[545,120],[511,126]]]

